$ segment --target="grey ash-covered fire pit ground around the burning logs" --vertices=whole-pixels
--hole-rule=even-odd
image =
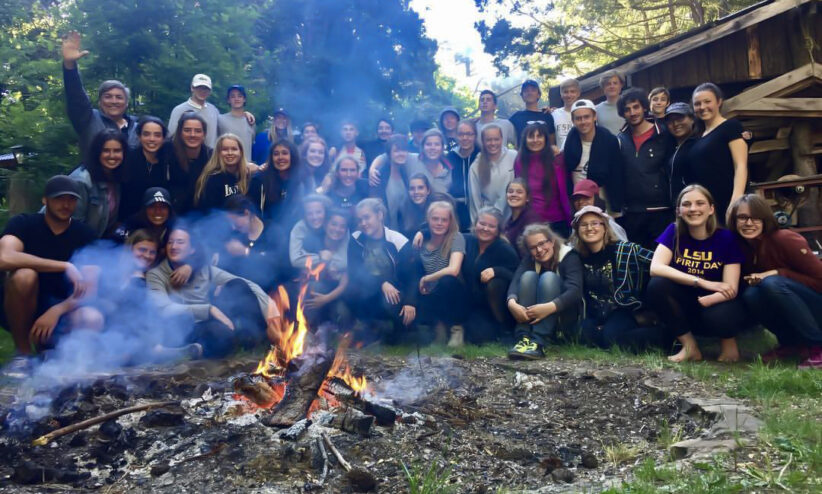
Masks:
[[[379,396],[394,399],[402,422],[360,436],[315,420],[290,441],[260,423],[267,411],[232,398],[232,376],[253,369],[256,360],[132,369],[63,390],[37,422],[20,416],[19,407],[4,411],[0,492],[361,490],[368,482],[352,481],[330,451],[318,485],[323,431],[346,460],[373,476],[376,492],[407,492],[401,462],[423,471],[447,465],[453,492],[596,491],[630,470],[609,461],[607,449],[632,447],[659,459],[667,454],[658,441],[663,429],[688,439],[710,426],[708,418],[680,413],[677,394],[694,394],[694,383],[670,371],[563,360],[349,357]],[[660,382],[671,393],[652,385]],[[56,427],[167,399],[182,404],[31,445]]]

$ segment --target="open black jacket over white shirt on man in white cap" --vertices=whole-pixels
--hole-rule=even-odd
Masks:
[[[582,137],[576,128],[568,133],[563,153],[565,154],[565,168],[568,170],[568,196],[570,197],[574,189],[571,183],[571,172],[582,159]],[[621,211],[625,204],[624,177],[619,141],[608,129],[597,125],[594,141],[591,143],[591,155],[588,158],[588,178],[600,187],[605,187],[608,205],[612,211]]]

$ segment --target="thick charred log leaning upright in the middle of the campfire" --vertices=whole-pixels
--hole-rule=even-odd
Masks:
[[[303,360],[299,369],[289,376],[283,399],[263,422],[270,427],[291,427],[304,419],[333,361],[333,355],[327,353]]]

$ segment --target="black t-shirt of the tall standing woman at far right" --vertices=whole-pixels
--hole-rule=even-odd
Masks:
[[[725,120],[710,134],[697,139],[688,152],[685,176],[711,192],[720,220],[725,217],[734,188],[734,162],[728,144],[742,139],[742,132],[742,124],[738,120]]]

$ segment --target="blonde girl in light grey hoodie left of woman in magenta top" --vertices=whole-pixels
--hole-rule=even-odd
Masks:
[[[514,179],[517,157],[517,153],[504,147],[502,128],[495,123],[483,127],[480,142],[481,151],[468,172],[471,222],[476,221],[477,211],[485,206],[493,206],[505,213],[505,187]]]

